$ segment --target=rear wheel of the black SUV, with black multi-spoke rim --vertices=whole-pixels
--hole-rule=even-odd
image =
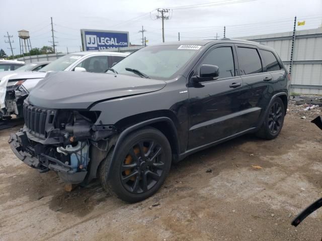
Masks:
[[[281,132],[284,123],[285,109],[281,98],[275,98],[268,107],[261,129],[256,136],[272,140]]]

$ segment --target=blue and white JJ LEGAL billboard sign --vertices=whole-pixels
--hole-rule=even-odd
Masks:
[[[83,50],[103,50],[129,46],[129,32],[81,29]]]

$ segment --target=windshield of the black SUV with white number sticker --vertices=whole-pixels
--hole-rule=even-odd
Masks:
[[[182,46],[188,46],[187,48]],[[163,45],[149,46],[129,55],[112,68],[119,74],[138,76],[133,71],[138,70],[154,79],[169,79],[175,75],[195,55],[201,46],[195,45]]]

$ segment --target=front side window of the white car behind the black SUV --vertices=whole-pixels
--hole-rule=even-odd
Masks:
[[[108,67],[108,56],[93,56],[79,63],[76,67],[85,68],[87,72],[105,73]]]

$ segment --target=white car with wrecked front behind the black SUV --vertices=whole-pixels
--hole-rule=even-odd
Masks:
[[[67,54],[41,68],[38,72],[0,73],[0,119],[11,118],[12,114],[22,117],[25,98],[48,72],[105,73],[114,63],[119,62],[129,54],[119,52],[78,52]]]

